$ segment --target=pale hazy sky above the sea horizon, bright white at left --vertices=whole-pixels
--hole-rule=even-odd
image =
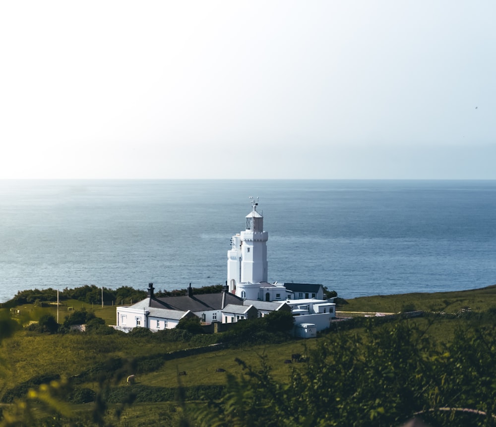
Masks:
[[[496,179],[495,16],[2,1],[0,179]]]

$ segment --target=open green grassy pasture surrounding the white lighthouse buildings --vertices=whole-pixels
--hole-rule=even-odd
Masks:
[[[75,300],[66,301],[59,308],[61,323],[65,315],[70,313],[68,307],[93,311],[96,316],[105,319],[107,324],[115,323],[115,307],[101,308]],[[396,322],[406,322],[418,328],[424,338],[431,339],[441,349],[444,344],[449,344],[453,340],[455,331],[460,328],[468,326],[473,330],[479,330],[492,325],[495,307],[496,286],[490,286],[469,291],[362,297],[349,300],[339,308],[343,311],[356,312],[394,313],[405,309],[416,309],[436,313],[411,320],[373,319],[371,321],[376,322],[377,325],[386,322],[386,326]],[[456,316],[462,308],[470,308],[471,311],[465,310],[462,315]],[[20,310],[18,319],[22,321],[39,319],[46,313],[54,316],[57,314],[57,308],[53,305],[40,307],[24,304],[13,309],[13,312],[15,310]],[[3,312],[9,313],[9,310]],[[439,314],[441,312],[446,315]],[[367,321],[360,320],[355,324],[349,321],[337,323],[336,330],[312,340],[216,348],[209,353],[174,359],[169,357],[170,352],[208,345],[215,337],[200,335],[193,339],[171,340],[164,339],[164,336],[158,333],[48,334],[24,329],[1,343],[0,399],[3,399],[4,405],[8,407],[14,397],[26,396],[29,388],[36,389],[43,382],[49,382],[54,378],[72,378],[71,393],[91,394],[101,391],[102,387],[107,387],[105,396],[109,408],[124,411],[120,420],[113,418],[114,416],[108,411],[105,412],[108,423],[123,426],[159,426],[168,420],[168,423],[175,425],[188,405],[201,407],[202,404],[194,402],[202,393],[207,395],[218,393],[218,388],[215,387],[226,386],[229,374],[235,376],[241,374],[238,359],[253,366],[255,370],[263,369],[262,361],[267,361],[271,380],[286,384],[290,382],[292,370],[303,372],[306,368],[304,363],[285,363],[286,360],[291,359],[293,353],[306,354],[307,351],[315,349],[319,343],[325,343],[333,352],[339,353],[340,348],[334,348],[333,342],[339,336],[345,335],[357,337],[357,342],[363,340],[368,333],[364,327]],[[219,372],[219,369],[223,371]],[[186,372],[186,375],[178,376],[180,372]],[[125,385],[125,377],[128,374],[136,375],[136,384],[133,388]],[[176,402],[176,391],[180,384],[188,390],[186,401],[190,403]],[[135,393],[135,402],[132,406],[123,407],[116,403],[125,400],[130,390]],[[76,414],[86,414],[95,409],[92,405],[72,405],[71,410]],[[39,408],[36,407],[35,410],[38,411]]]

